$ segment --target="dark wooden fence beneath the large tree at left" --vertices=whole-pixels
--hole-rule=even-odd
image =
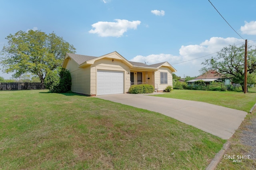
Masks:
[[[41,83],[31,82],[12,82],[0,83],[0,90],[29,90],[29,89],[44,89]]]

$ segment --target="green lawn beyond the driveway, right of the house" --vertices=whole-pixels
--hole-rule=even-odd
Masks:
[[[183,100],[193,100],[206,102],[218,106],[230,107],[249,112],[256,103],[256,89],[250,88],[249,92],[220,92],[206,90],[173,90],[170,93],[158,94],[154,96],[175,98]]]

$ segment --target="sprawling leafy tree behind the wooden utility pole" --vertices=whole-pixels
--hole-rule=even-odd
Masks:
[[[244,90],[244,45],[236,47],[229,45],[217,53],[216,57],[206,59],[202,64],[205,66],[200,70],[204,73],[208,70],[216,70],[232,82],[240,84]],[[256,50],[251,46],[247,48],[247,70],[248,75],[256,72]]]

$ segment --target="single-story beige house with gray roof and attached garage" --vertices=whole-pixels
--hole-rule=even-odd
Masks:
[[[172,72],[176,72],[168,62],[127,61],[116,51],[101,57],[66,53],[62,67],[70,71],[71,91],[88,96],[127,93],[133,84],[151,84],[162,92],[172,86]]]

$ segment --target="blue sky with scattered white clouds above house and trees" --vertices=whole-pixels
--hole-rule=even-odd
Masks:
[[[117,51],[128,61],[168,61],[178,76],[199,76],[202,61],[223,47],[244,39],[256,45],[255,0],[210,2],[0,0],[0,49],[7,44],[5,37],[19,30],[54,31],[74,45],[76,54],[100,57]],[[0,71],[0,76],[8,79],[11,74]]]

